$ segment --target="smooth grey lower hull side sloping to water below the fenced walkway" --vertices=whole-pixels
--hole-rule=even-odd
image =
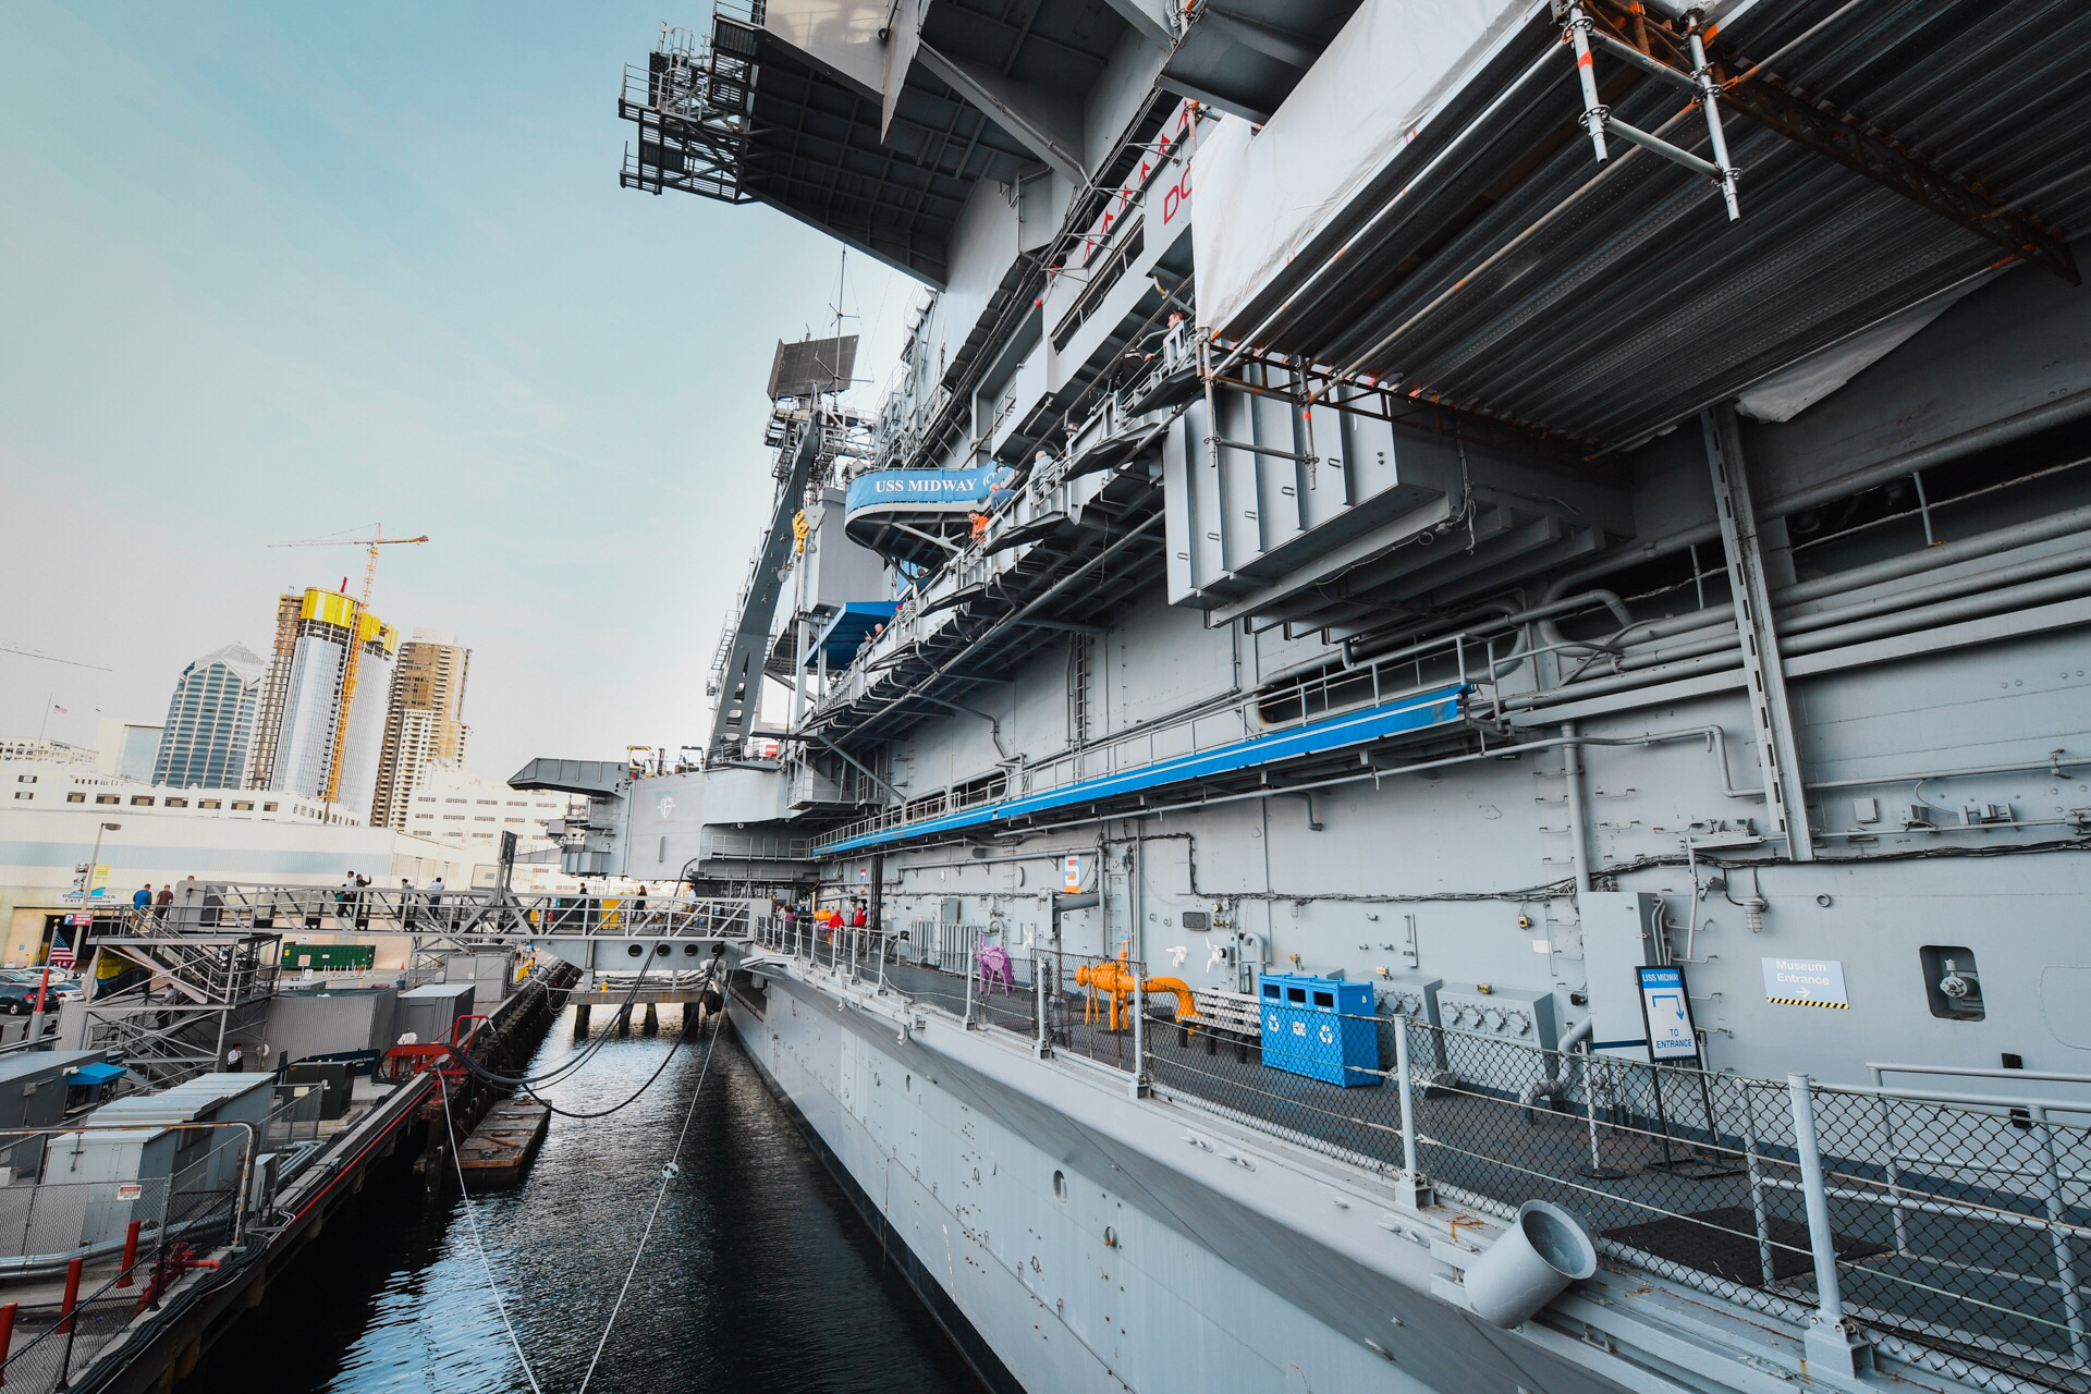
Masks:
[[[1432,1292],[1478,1225],[1464,1210],[1403,1210],[1347,1168],[876,991],[765,978],[728,993],[728,1020],[989,1388],[1756,1388],[1746,1346],[1727,1373],[1692,1371],[1675,1342],[1656,1354],[1633,1306],[1669,1315],[1681,1294],[1600,1279],[1577,1306],[1616,1335],[1497,1331]],[[1754,1335],[1767,1363],[1794,1344]]]

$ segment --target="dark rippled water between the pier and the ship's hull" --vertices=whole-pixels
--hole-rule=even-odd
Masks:
[[[602,1014],[598,1014],[600,1018]],[[611,1302],[631,1264],[661,1168],[675,1145],[707,1037],[613,1039],[546,1097],[602,1110],[552,1118],[529,1179],[473,1200],[487,1258],[544,1394],[581,1386]],[[571,1058],[571,1016],[533,1072]],[[452,1183],[372,1185],[328,1221],[297,1267],[182,1384],[272,1394],[529,1390],[502,1329]],[[730,1030],[719,1032],[682,1166],[590,1390],[673,1394],[976,1394],[922,1304],[882,1262]]]

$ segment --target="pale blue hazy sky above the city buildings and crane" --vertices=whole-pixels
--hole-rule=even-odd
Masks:
[[[360,591],[270,543],[383,525],[431,541],[372,610],[473,650],[468,767],[705,742],[774,343],[841,276],[884,378],[920,295],[619,188],[623,65],[709,10],[0,0],[0,736],[161,721],[280,589]]]

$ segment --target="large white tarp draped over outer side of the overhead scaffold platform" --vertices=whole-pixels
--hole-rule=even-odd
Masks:
[[[1545,0],[1365,0],[1261,132],[1198,138],[1198,322],[1232,324],[1257,291],[1416,138]],[[1562,59],[1562,111],[1575,73]]]

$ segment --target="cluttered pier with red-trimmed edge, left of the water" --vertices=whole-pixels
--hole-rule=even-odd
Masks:
[[[481,1022],[491,1030],[460,1026],[456,1053],[491,1070],[519,1066],[562,1005],[571,978],[567,966],[533,974]],[[220,1108],[226,1116],[167,1122],[176,1101],[190,1095],[228,1099]],[[8,1394],[171,1388],[243,1312],[268,1302],[284,1267],[326,1235],[335,1214],[381,1168],[420,1175],[431,1187],[454,1168],[489,1185],[523,1175],[544,1141],[548,1112],[496,1095],[452,1058],[450,1045],[414,1045],[387,1051],[368,1076],[351,1074],[347,1099],[332,1106],[322,1106],[324,1087],[220,1072],[132,1095],[157,1106],[136,1124],[111,1116],[38,1131],[31,1141],[52,1152],[86,1149],[113,1135],[205,1141],[192,1143],[201,1158],[169,1179],[19,1187],[31,1216],[77,1216],[84,1206],[88,1214],[121,1212],[130,1223],[84,1233],[75,1218],[63,1244],[61,1229],[33,1229],[50,1252],[25,1254],[23,1281],[0,1290],[0,1377]],[[456,1160],[452,1129],[468,1133]]]

